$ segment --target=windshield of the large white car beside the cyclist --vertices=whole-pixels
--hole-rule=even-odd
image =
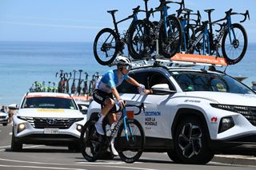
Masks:
[[[246,85],[225,74],[192,71],[171,71],[170,73],[185,92],[211,91],[255,94]]]

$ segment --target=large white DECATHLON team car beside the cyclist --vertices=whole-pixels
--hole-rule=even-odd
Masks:
[[[128,104],[144,103],[145,111],[135,116],[146,134],[144,152],[206,164],[223,149],[256,144],[256,93],[226,73],[147,66],[129,75],[154,92],[142,95],[126,81],[118,87]],[[99,110],[92,101],[87,117],[97,117]]]

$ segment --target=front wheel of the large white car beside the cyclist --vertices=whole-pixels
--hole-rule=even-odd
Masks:
[[[214,156],[207,144],[206,128],[196,117],[186,117],[176,128],[174,149],[185,164],[207,164]]]

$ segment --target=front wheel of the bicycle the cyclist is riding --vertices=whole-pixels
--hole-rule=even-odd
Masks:
[[[126,125],[127,134],[122,124],[114,140],[114,146],[121,160],[126,163],[133,163],[142,156],[145,145],[145,133],[142,125],[135,119],[127,120]]]

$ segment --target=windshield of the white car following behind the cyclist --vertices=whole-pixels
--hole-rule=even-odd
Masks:
[[[77,109],[73,100],[64,97],[26,97],[22,108]]]

